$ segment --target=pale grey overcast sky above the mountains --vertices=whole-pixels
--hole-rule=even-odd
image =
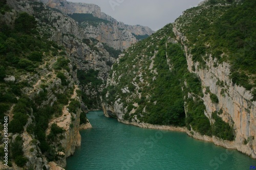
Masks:
[[[182,11],[197,6],[202,0],[67,0],[96,4],[104,12],[127,25],[148,26],[157,31],[174,22]]]

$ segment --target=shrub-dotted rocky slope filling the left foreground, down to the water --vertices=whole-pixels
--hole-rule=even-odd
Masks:
[[[109,53],[102,48],[104,53],[97,56],[99,50],[91,50],[74,37],[80,33],[73,19],[41,3],[1,3],[1,141],[9,138],[9,167],[1,161],[0,169],[61,169],[66,166],[66,157],[80,145],[79,125],[90,127],[81,111],[87,108],[81,105],[78,68],[90,69]],[[67,25],[59,27],[58,22]],[[89,54],[80,56],[85,51]],[[91,58],[86,65],[82,62],[87,56]],[[100,70],[94,79],[106,77],[104,72]],[[4,116],[8,116],[7,136]],[[5,145],[0,147],[3,160]]]

